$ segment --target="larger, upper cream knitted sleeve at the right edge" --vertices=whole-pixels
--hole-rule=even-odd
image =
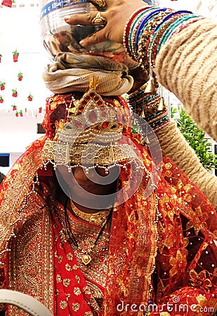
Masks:
[[[217,22],[204,18],[171,37],[160,49],[154,71],[217,141]]]

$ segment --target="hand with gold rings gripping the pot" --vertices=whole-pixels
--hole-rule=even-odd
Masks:
[[[116,43],[123,43],[124,26],[133,12],[139,8],[147,7],[143,0],[105,0],[106,11],[100,12],[105,18],[107,24],[103,29],[92,34],[86,39],[82,39],[81,46],[91,46],[110,39]],[[67,15],[65,22],[70,25],[91,25],[91,21],[95,18],[93,12],[87,14]]]

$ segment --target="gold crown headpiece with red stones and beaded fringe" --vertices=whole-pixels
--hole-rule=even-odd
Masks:
[[[91,77],[89,90],[67,107],[67,119],[58,125],[53,140],[46,140],[42,152],[44,166],[65,165],[88,169],[101,166],[106,171],[112,166],[126,168],[135,162],[143,168],[143,159],[135,144],[123,135],[130,119],[129,112],[119,101],[111,105],[97,93],[98,77]],[[128,115],[127,115],[128,114]]]

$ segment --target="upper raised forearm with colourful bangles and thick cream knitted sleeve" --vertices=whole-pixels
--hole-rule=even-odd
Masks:
[[[135,14],[124,32],[129,55],[144,70],[151,68],[157,81],[217,140],[217,22],[162,8]]]

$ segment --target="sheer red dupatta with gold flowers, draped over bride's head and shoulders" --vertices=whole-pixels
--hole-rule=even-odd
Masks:
[[[120,100],[123,107],[126,106],[125,101]],[[60,103],[55,109],[58,105]],[[50,135],[52,124],[49,121]],[[143,155],[147,170],[151,171],[152,159],[147,148],[139,145],[130,133],[128,136]],[[20,223],[28,219],[25,199],[34,195],[32,184],[42,166],[43,145],[44,138],[30,146],[1,186],[1,251],[10,246],[5,242],[13,237],[13,228],[19,230]],[[121,172],[122,186],[128,176],[127,172]],[[133,310],[117,310],[117,305],[123,302],[125,307],[127,304],[145,306],[152,299],[160,306],[174,296],[183,303],[193,302],[199,306],[205,302],[208,307],[215,308],[217,225],[214,209],[183,171],[166,157],[157,190],[148,198],[143,195],[146,185],[144,177],[136,194],[114,208],[102,315],[135,315]],[[22,217],[22,213],[25,216]],[[6,263],[4,253],[2,260]],[[157,272],[157,286],[155,282],[154,287],[157,291],[152,290],[154,272]],[[72,278],[75,276],[72,274]],[[84,287],[82,282],[82,296]],[[23,291],[28,293],[28,289]],[[85,295],[87,298],[90,294]],[[53,302],[54,297],[55,293]],[[85,304],[84,308],[87,308]],[[191,311],[179,313],[191,315]],[[174,310],[169,312],[169,315],[176,314]],[[143,311],[138,310],[137,315],[143,315]],[[152,315],[159,314],[153,312]]]

